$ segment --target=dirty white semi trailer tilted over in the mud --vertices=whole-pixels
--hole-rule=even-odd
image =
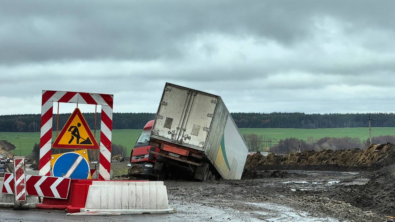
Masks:
[[[149,144],[158,179],[240,179],[248,147],[220,96],[166,83]]]

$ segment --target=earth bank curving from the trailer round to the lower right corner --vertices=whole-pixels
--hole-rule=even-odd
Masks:
[[[361,174],[357,178],[368,179],[367,184],[342,185],[340,183],[328,190],[311,189],[295,192],[294,196],[299,199],[329,198],[333,201],[347,203],[363,211],[372,211],[378,215],[395,215],[395,144],[373,144],[363,150],[304,151],[288,155],[269,154],[267,157],[257,153],[248,156],[243,178],[273,177],[269,175],[269,169],[277,171],[278,169],[359,171]],[[282,172],[280,175],[286,177],[287,171],[279,172]]]

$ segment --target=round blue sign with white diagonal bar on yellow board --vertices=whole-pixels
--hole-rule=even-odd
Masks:
[[[86,149],[51,155],[51,166],[54,177],[91,178]]]

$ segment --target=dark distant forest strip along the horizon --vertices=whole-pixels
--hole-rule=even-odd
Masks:
[[[91,129],[95,126],[94,113],[84,113]],[[395,113],[231,113],[239,128],[343,128],[367,127],[370,115],[372,126],[395,126]],[[59,114],[59,130],[69,114]],[[113,129],[142,129],[154,119],[154,113],[114,113]],[[40,114],[0,115],[0,132],[40,131]],[[53,130],[56,130],[56,115],[53,115]],[[100,113],[96,115],[96,129],[100,129]]]

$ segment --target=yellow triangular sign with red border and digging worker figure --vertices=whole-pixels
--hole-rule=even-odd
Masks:
[[[81,111],[75,108],[62,131],[52,145],[53,148],[99,149]]]

